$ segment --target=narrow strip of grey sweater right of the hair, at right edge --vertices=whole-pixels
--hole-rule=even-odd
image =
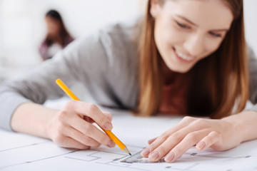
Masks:
[[[251,48],[248,48],[249,57],[249,84],[250,84],[250,99],[253,107],[248,110],[257,111],[257,58]]]

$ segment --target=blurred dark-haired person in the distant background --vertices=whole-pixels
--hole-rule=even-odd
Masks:
[[[74,41],[74,38],[66,30],[58,11],[48,11],[45,19],[47,26],[46,38],[39,47],[39,53],[44,61],[52,58],[57,51]]]

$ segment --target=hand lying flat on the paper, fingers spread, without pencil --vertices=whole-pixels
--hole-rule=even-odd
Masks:
[[[228,150],[241,143],[239,129],[228,120],[213,120],[184,117],[181,122],[166,130],[158,138],[149,140],[141,155],[155,162],[164,157],[174,162],[193,145],[197,150],[208,147],[213,150]]]

